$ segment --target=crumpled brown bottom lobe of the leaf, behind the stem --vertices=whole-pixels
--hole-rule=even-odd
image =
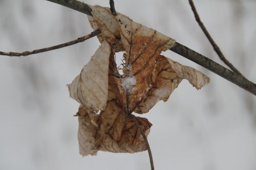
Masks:
[[[110,59],[111,60],[111,59]],[[114,68],[112,58],[110,67]],[[98,150],[108,152],[134,153],[147,149],[138,127],[130,117],[127,117],[122,104],[118,100],[119,91],[116,87],[119,79],[109,71],[109,96],[108,104],[99,115],[90,115],[85,106],[80,106],[78,111],[79,151],[83,156],[95,155]],[[141,128],[147,136],[152,126],[147,119],[138,117]]]

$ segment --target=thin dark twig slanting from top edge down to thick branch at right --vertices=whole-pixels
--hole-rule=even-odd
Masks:
[[[212,37],[210,36],[209,32],[207,31],[207,29],[205,28],[203,22],[202,22],[201,19],[200,19],[200,16],[199,16],[199,14],[198,14],[198,12],[197,12],[197,9],[196,9],[196,7],[195,7],[195,4],[194,4],[193,0],[188,0],[188,1],[189,1],[189,4],[190,4],[190,6],[191,6],[191,9],[192,9],[192,11],[193,11],[193,13],[194,13],[194,15],[195,15],[195,18],[196,18],[196,20],[197,20],[197,22],[198,22],[200,28],[203,30],[205,36],[206,36],[206,37],[208,38],[208,40],[210,41],[212,47],[214,47],[214,50],[215,50],[215,52],[218,54],[218,56],[220,57],[220,59],[221,59],[230,69],[232,69],[234,72],[237,72],[237,74],[242,75],[241,72],[240,72],[236,67],[234,67],[233,64],[231,64],[231,63],[225,58],[225,56],[224,56],[223,53],[221,52],[219,46],[215,43],[214,39],[212,39]],[[243,76],[243,75],[242,75],[242,76]]]

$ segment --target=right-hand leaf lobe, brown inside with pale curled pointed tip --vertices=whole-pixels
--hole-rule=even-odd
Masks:
[[[210,79],[196,69],[181,65],[164,56],[159,56],[152,71],[153,86],[148,90],[145,99],[134,112],[147,113],[160,100],[166,102],[169,95],[178,87],[183,79],[187,79],[197,89],[208,84]]]

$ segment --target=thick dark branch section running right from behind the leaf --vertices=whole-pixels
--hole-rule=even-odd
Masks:
[[[237,72],[233,72],[215,61],[204,57],[203,55],[191,50],[190,48],[182,45],[178,42],[170,48],[171,51],[191,60],[195,63],[207,68],[208,70],[215,72],[217,75],[227,79],[228,81],[238,85],[239,87],[249,91],[250,93],[256,95],[256,84],[248,81],[242,75]]]

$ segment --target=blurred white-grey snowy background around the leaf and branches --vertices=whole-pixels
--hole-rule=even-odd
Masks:
[[[109,6],[109,1],[88,0]],[[222,63],[200,30],[188,1],[115,1],[116,10]],[[198,0],[195,5],[225,56],[256,82],[256,1]],[[0,51],[23,52],[90,33],[87,16],[47,1],[0,0]],[[149,169],[147,152],[78,152],[78,103],[71,83],[99,46],[96,38],[28,57],[0,56],[0,169]],[[255,170],[256,98],[171,51],[164,53],[211,78],[197,91],[187,81],[142,115],[155,169]]]

